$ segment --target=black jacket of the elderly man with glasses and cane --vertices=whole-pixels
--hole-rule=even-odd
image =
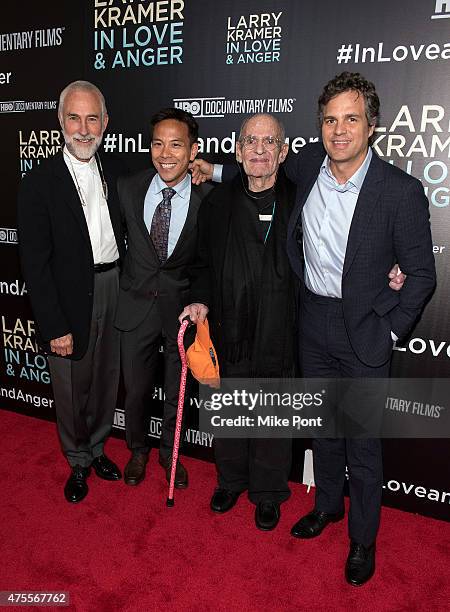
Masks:
[[[191,301],[209,307],[208,320],[219,362],[226,352],[224,338],[228,325],[223,307],[224,291],[228,291],[223,280],[224,266],[228,257],[232,208],[241,192],[241,179],[235,177],[218,185],[202,202],[198,217],[197,258],[191,269]],[[260,282],[261,300],[258,318],[254,321],[254,350],[251,368],[246,370],[248,376],[283,376],[294,372],[295,368],[297,282],[290,271],[285,246],[288,220],[295,202],[295,186],[282,169],[275,193],[277,209],[269,240],[275,240],[279,247],[273,246],[270,251],[273,260],[270,263],[266,261],[267,268]],[[280,278],[285,283],[282,292],[276,285]]]

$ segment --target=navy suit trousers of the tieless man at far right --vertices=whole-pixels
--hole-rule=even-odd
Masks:
[[[305,378],[387,378],[390,363],[378,368],[355,355],[345,328],[342,301],[304,290],[300,306],[300,362]],[[380,522],[383,484],[381,442],[374,438],[313,440],[315,507],[327,513],[344,507],[348,468],[349,536],[369,546]]]

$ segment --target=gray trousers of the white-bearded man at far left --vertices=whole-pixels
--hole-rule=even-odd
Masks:
[[[120,332],[114,327],[119,268],[95,274],[89,344],[79,360],[48,362],[61,446],[71,466],[88,467],[111,432],[120,373]]]

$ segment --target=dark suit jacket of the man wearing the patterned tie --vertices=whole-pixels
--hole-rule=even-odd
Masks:
[[[175,249],[161,265],[144,223],[144,199],[155,176],[153,169],[119,180],[118,192],[127,229],[127,254],[120,279],[116,326],[137,327],[156,303],[165,331],[177,334],[178,316],[190,303],[189,266],[195,256],[197,212],[209,185],[192,185],[186,222]]]

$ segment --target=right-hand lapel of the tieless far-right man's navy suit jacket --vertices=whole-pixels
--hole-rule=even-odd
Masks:
[[[381,195],[380,182],[382,181],[383,165],[374,153],[366,177],[362,184],[361,191],[359,192],[355,212],[350,225],[347,250],[344,260],[344,269],[342,271],[343,277],[350,269],[359,245],[366,235],[366,228]]]

